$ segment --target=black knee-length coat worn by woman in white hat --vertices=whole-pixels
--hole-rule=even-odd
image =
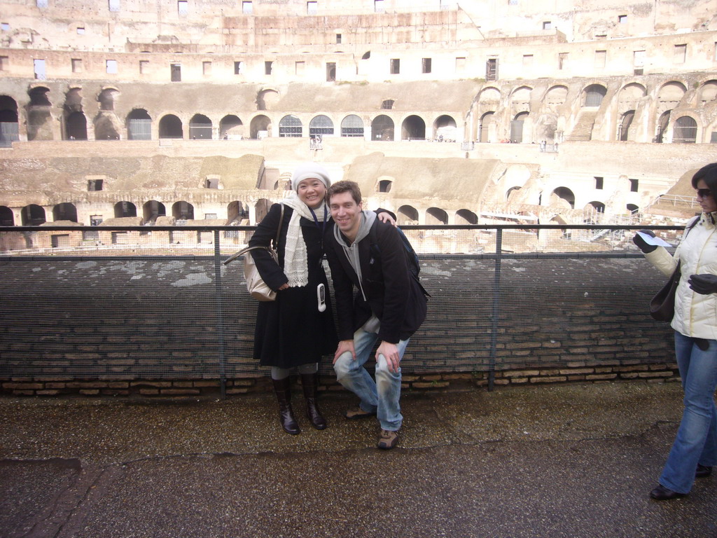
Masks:
[[[293,214],[291,207],[284,207],[284,221],[279,237],[279,265],[263,250],[252,250],[262,279],[273,290],[288,282],[284,274],[286,233]],[[249,246],[270,246],[276,237],[281,214],[280,204],[274,204],[260,222],[249,241]],[[331,217],[328,217],[331,221]],[[254,331],[254,358],[262,366],[291,368],[300,364],[319,362],[323,355],[333,354],[338,341],[331,313],[326,273],[323,270],[323,228],[331,222],[318,223],[301,217],[301,232],[306,243],[308,259],[308,284],[300,288],[279,291],[276,301],[260,302]],[[326,286],[326,310],[318,311],[316,287]]]

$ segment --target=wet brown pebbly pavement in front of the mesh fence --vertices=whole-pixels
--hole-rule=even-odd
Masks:
[[[282,433],[273,395],[0,398],[0,537],[717,537],[717,476],[647,494],[677,383],[407,392],[374,420]],[[303,410],[303,397],[294,397]]]

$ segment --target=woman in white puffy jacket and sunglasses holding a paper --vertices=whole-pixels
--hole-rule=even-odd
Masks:
[[[680,262],[672,327],[685,408],[660,483],[650,491],[658,501],[687,495],[695,477],[709,476],[717,464],[717,163],[698,170],[692,186],[702,214],[685,227],[674,256],[640,235],[633,239],[666,276]]]

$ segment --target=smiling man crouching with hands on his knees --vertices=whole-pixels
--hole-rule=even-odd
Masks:
[[[326,200],[334,226],[324,242],[340,340],[333,368],[338,382],[361,399],[346,418],[376,415],[381,423],[378,447],[394,448],[403,421],[400,362],[426,316],[427,300],[409,271],[399,231],[377,220],[374,212],[363,211],[358,184],[338,181],[328,189]],[[364,364],[376,340],[380,344],[374,382]]]

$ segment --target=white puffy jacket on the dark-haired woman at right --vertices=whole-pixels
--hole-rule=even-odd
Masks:
[[[695,220],[699,222],[695,223]],[[680,260],[680,283],[675,292],[675,316],[672,328],[685,336],[717,340],[717,294],[703,295],[690,289],[690,275],[717,275],[717,212],[703,213],[690,220],[675,250],[674,257],[665,247],[645,254],[647,261],[670,276]],[[693,226],[693,223],[695,225]]]

